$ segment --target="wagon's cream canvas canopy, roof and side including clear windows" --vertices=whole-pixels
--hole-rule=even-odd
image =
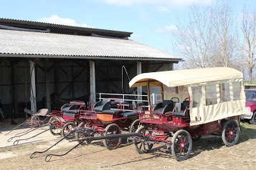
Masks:
[[[218,67],[139,74],[130,81],[129,85],[131,87],[162,85],[181,87],[188,85],[191,99],[189,104],[190,125],[194,126],[243,114],[245,91],[242,82],[242,72]],[[227,86],[227,89],[223,85]],[[207,86],[212,86],[212,88],[207,89]],[[193,87],[198,87],[200,91],[196,91]],[[210,91],[213,91],[213,95],[207,94]],[[181,94],[175,95],[178,95],[176,97],[182,102],[182,91]],[[171,99],[171,97],[167,94],[164,96],[165,99]],[[151,99],[150,96],[148,99]],[[208,104],[208,100],[212,104]]]

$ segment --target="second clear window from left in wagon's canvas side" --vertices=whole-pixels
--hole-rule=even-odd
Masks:
[[[217,104],[216,84],[207,84],[205,86],[205,99],[207,106]]]

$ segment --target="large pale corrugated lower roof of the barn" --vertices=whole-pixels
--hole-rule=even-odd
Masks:
[[[36,55],[37,57],[138,58],[181,61],[169,53],[136,41],[93,36],[50,34],[0,29],[0,54]],[[79,56],[79,57],[77,57]]]

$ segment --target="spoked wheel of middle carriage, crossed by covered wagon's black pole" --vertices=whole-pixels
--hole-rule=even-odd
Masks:
[[[120,127],[117,124],[109,124],[105,128],[105,136],[113,134],[121,134]],[[120,142],[121,138],[103,140],[103,144],[107,149],[116,149],[120,145]]]

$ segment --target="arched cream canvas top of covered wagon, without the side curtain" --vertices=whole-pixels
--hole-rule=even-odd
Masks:
[[[144,73],[135,76],[129,83],[131,87],[147,86],[148,81],[155,82],[156,86],[184,86],[209,81],[220,81],[227,79],[241,79],[243,74],[236,69],[227,67],[215,67],[207,69],[186,69],[175,71],[159,71]]]

